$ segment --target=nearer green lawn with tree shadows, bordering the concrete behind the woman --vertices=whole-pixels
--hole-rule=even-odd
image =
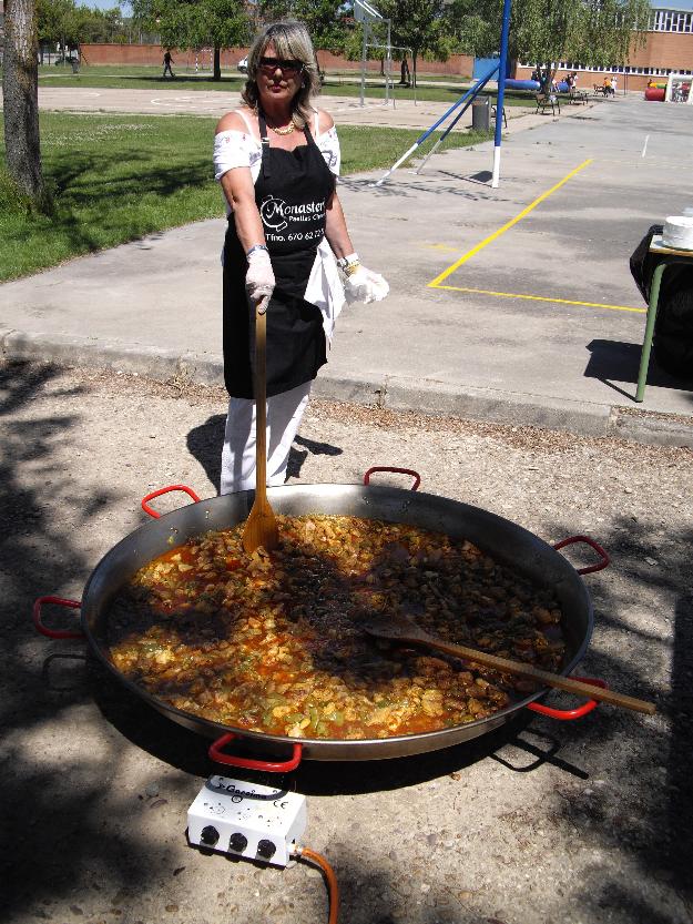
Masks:
[[[0,281],[224,214],[212,175],[215,119],[53,112],[40,118],[43,172],[54,190],[55,211],[49,217],[17,206],[0,143]],[[419,135],[345,125],[339,129],[343,173],[386,169]],[[420,153],[436,140],[432,135]],[[452,132],[445,146],[481,140]]]

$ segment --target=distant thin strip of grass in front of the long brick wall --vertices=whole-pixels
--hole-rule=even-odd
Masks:
[[[208,72],[205,73],[188,73],[181,69],[176,72],[175,80],[166,78],[163,80],[162,69],[157,67],[116,67],[102,65],[94,68],[83,68],[79,74],[73,74],[69,68],[43,65],[39,68],[39,85],[40,87],[83,87],[102,90],[122,90],[122,89],[144,89],[155,90],[159,92],[163,87],[166,89],[183,89],[188,90],[207,90],[222,92],[240,92],[245,82],[243,74],[235,71],[224,71],[221,81],[212,80]],[[369,73],[369,80],[377,81],[377,84],[370,83],[366,85],[365,95],[368,99],[384,99],[385,97],[385,81],[383,81],[377,73]],[[419,80],[430,81],[432,83],[440,83],[442,81],[453,84],[451,87],[428,87],[419,84],[416,91],[416,99],[426,102],[449,102],[452,104],[455,100],[459,99],[465,90],[470,85],[468,78],[441,77],[439,74],[425,77],[419,75]],[[414,90],[410,88],[398,87],[395,82],[393,88],[393,95],[395,100],[414,100]],[[485,91],[486,92],[486,91]],[[490,95],[496,97],[496,91],[490,92]],[[342,71],[338,75],[327,74],[325,85],[323,87],[323,94],[326,97],[359,97],[360,95],[360,75],[356,71]],[[534,99],[531,93],[522,93],[518,91],[506,91],[506,105],[533,105]]]

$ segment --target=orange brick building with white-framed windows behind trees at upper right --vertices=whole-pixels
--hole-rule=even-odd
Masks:
[[[648,81],[665,82],[670,73],[693,74],[693,0],[651,0],[652,14],[642,48],[633,48],[628,64],[592,68],[574,61],[559,61],[559,78],[578,72],[578,85],[602,83],[605,74],[619,75],[620,90],[644,90]],[[528,78],[532,65],[518,65],[516,77]]]

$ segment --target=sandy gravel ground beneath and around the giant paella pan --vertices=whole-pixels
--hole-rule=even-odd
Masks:
[[[114,688],[82,643],[31,626],[37,596],[81,598],[101,556],[145,522],[150,489],[214,495],[224,405],[218,388],[0,365],[3,924],[327,920],[305,865],[263,871],[188,847],[187,806],[217,770],[207,742]],[[421,489],[548,541],[600,541],[613,563],[585,577],[595,631],[580,669],[658,705],[652,718],[601,707],[579,722],[528,713],[436,754],[307,763],[284,778],[308,796],[305,843],[336,870],[340,924],[691,924],[691,457],[313,404],[293,484],[411,465]]]

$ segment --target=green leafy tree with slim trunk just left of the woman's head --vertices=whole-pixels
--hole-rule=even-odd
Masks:
[[[157,31],[163,48],[214,48],[214,80],[222,79],[221,50],[245,44],[251,18],[243,0],[132,0],[133,19]]]

